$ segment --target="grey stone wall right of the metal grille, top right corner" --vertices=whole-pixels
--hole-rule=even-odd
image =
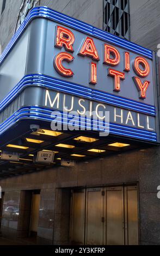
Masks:
[[[157,50],[160,44],[159,0],[130,1],[131,41],[144,47]]]

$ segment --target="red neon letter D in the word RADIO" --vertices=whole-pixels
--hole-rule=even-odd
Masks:
[[[110,57],[112,56],[112,58]],[[119,51],[115,47],[104,44],[104,64],[116,66],[120,62]]]

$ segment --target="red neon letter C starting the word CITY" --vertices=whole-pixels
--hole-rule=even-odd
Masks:
[[[61,76],[66,76],[66,77],[73,76],[74,73],[72,72],[72,70],[66,69],[62,65],[63,60],[65,60],[66,62],[71,62],[73,59],[74,57],[70,53],[60,52],[54,58],[54,61],[53,61],[54,68]]]

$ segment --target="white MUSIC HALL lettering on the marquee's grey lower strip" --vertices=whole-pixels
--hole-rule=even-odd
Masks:
[[[56,93],[51,90],[45,90],[45,102],[46,107],[56,109],[58,111],[76,111],[79,115],[85,115],[95,111],[97,118],[104,119],[104,111],[109,111],[110,121],[121,125],[129,125],[132,127],[138,127],[139,129],[153,131],[155,130],[155,124],[153,117],[149,115],[140,115],[134,111],[127,111],[126,109],[111,107],[107,104],[94,102],[91,100],[83,99],[82,97],[67,95],[64,93]],[[99,115],[99,111],[102,111],[102,117]],[[143,124],[140,123],[143,120]],[[137,125],[136,125],[137,124]]]

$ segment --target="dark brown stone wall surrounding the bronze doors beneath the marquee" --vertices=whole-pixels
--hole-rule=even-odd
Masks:
[[[78,163],[75,168],[57,167],[38,173],[4,179],[4,201],[19,195],[21,190],[41,190],[41,206],[46,209],[46,220],[39,219],[39,243],[69,242],[71,187],[131,184],[139,186],[140,244],[160,245],[160,204],[157,198],[160,149],[129,151],[118,156]],[[3,216],[4,217],[4,216]],[[5,219],[5,218],[4,218]],[[3,219],[2,219],[3,220]],[[2,225],[4,222],[2,222]],[[9,228],[9,226],[8,226]],[[3,231],[3,229],[2,229]]]

